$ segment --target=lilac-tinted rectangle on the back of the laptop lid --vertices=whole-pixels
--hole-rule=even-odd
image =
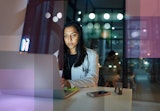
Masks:
[[[34,90],[34,70],[1,69],[0,89]]]

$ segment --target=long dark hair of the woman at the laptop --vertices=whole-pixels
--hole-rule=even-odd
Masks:
[[[76,57],[76,60],[74,62],[74,67],[77,67],[77,66],[80,66],[83,61],[84,61],[84,58],[85,56],[87,55],[87,52],[86,52],[86,48],[84,46],[84,41],[83,41],[83,33],[82,33],[82,27],[81,25],[78,23],[78,22],[75,22],[75,21],[71,21],[67,24],[64,25],[64,29],[66,27],[74,27],[78,34],[79,34],[79,41],[78,41],[78,44],[77,44],[77,47],[76,47],[76,51],[77,51],[77,57]],[[63,32],[64,32],[64,29],[63,29]],[[63,39],[64,41],[64,39]],[[68,47],[66,46],[66,44],[64,43],[64,66],[65,67],[69,67],[68,66],[68,55],[70,54],[69,52],[69,49]]]

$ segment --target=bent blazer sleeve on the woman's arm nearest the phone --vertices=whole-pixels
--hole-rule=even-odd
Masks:
[[[85,66],[86,71],[84,71],[85,74],[82,78],[69,80],[71,87],[80,87],[80,88],[94,87],[97,86],[98,84],[98,78],[99,78],[98,54],[93,50],[90,50],[87,53],[88,57],[85,58],[84,63],[88,64],[88,68],[86,68],[87,66]]]

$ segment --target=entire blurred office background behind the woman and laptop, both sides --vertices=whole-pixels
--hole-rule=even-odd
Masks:
[[[76,20],[83,26],[85,45],[99,54],[100,66],[109,51],[118,54],[123,87],[132,89],[132,99],[158,103],[159,5],[156,0],[1,0],[0,51],[54,53],[63,25]],[[41,45],[30,35],[39,36]],[[23,40],[34,41],[33,48],[22,48]]]

